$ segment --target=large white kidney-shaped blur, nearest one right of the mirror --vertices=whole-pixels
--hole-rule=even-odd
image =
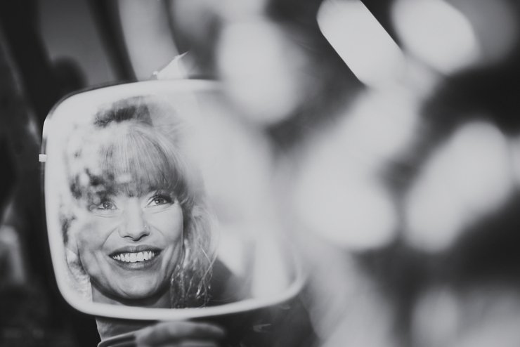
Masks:
[[[382,173],[410,145],[417,107],[407,89],[368,91],[306,145],[294,209],[308,228],[348,249],[393,240],[398,211]]]

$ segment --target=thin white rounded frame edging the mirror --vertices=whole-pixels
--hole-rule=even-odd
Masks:
[[[49,208],[49,195],[45,192],[51,190],[49,180],[46,178],[46,148],[48,136],[54,131],[53,116],[56,110],[65,103],[70,103],[72,99],[83,98],[84,101],[98,100],[100,96],[103,101],[107,99],[106,94],[110,94],[108,100],[114,98],[129,98],[132,96],[140,96],[143,94],[155,93],[175,93],[179,92],[197,92],[197,91],[219,91],[221,86],[217,81],[197,80],[197,79],[179,79],[179,80],[152,80],[152,81],[138,81],[127,84],[112,84],[109,86],[101,86],[93,89],[84,89],[76,93],[69,94],[62,98],[52,110],[48,113],[42,133],[41,154],[39,155],[39,162],[41,162],[41,183],[44,188],[44,210],[46,216],[46,227],[48,234],[49,247],[51,249],[51,259],[53,263],[54,273],[58,289],[65,301],[73,308],[76,308],[83,313],[95,315],[100,317],[112,317],[129,320],[184,320],[199,317],[213,317],[217,315],[228,315],[231,313],[243,313],[259,308],[266,308],[268,306],[275,306],[285,301],[293,299],[304,286],[306,275],[304,275],[303,266],[297,251],[294,248],[288,247],[290,251],[290,264],[294,268],[294,281],[282,292],[263,298],[244,299],[234,303],[226,303],[221,306],[210,306],[203,308],[143,308],[135,306],[116,306],[107,303],[87,302],[78,299],[77,294],[74,293],[69,284],[67,284],[67,268],[63,259],[65,258],[65,247],[63,246],[63,239],[60,233],[61,227],[57,223],[57,219],[53,217],[53,209]],[[104,97],[104,98],[103,98]],[[74,100],[74,102],[76,102]]]

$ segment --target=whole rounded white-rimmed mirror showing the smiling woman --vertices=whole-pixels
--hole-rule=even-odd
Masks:
[[[60,292],[93,315],[220,315],[301,288],[269,151],[214,81],[146,81],[62,100],[44,125]]]

